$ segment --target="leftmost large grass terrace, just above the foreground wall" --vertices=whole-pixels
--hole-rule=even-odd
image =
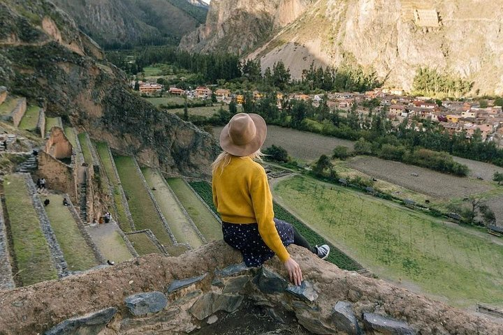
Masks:
[[[6,176],[3,179],[3,190],[18,271],[15,280],[27,286],[56,279],[57,271],[52,263],[49,246],[24,179],[15,175]]]

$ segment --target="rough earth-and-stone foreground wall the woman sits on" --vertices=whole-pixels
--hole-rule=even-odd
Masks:
[[[240,264],[238,251],[212,241],[177,258],[152,254],[0,291],[0,329],[34,334],[59,324],[47,334],[88,326],[95,327],[92,334],[183,334],[205,327],[215,313],[238,310],[247,299],[278,317],[293,313],[313,334],[503,334],[501,325],[486,318],[341,270],[299,246],[288,248],[304,274],[300,288],[285,281],[277,258],[250,269]],[[111,311],[108,318],[89,322],[103,311]]]

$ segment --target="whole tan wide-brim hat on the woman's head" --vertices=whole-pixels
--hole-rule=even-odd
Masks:
[[[220,133],[220,147],[233,156],[249,156],[262,147],[267,125],[258,114],[235,114]]]

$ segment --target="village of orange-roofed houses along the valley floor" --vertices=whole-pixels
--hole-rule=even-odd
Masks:
[[[173,96],[187,96],[188,99],[208,100],[214,99],[217,103],[231,103],[241,105],[245,102],[245,95],[232,92],[229,89],[212,89],[210,87],[196,87],[196,89],[180,89],[169,87],[165,90],[161,84],[140,82],[140,94],[162,94],[163,91]],[[263,98],[265,93],[253,91],[254,101]],[[284,99],[310,102],[314,107],[326,99],[330,112],[338,110],[342,115],[355,110],[357,114],[367,115],[370,107],[364,107],[365,102],[378,101],[379,105],[372,112],[386,112],[386,117],[392,121],[393,126],[408,120],[410,127],[414,122],[416,131],[424,131],[422,121],[431,121],[442,126],[449,135],[465,132],[467,138],[472,138],[479,133],[483,142],[495,142],[503,147],[503,112],[502,106],[494,105],[491,100],[451,101],[433,100],[429,97],[408,96],[402,89],[373,89],[365,93],[342,92],[328,94],[282,94],[277,93],[277,107],[282,108]],[[422,120],[422,121],[421,121]],[[478,131],[479,132],[478,132]]]

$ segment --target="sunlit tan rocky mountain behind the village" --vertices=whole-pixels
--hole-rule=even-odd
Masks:
[[[503,94],[502,26],[503,3],[491,0],[214,0],[180,47],[236,52],[263,69],[282,59],[293,77],[312,61],[362,66],[406,90],[428,66]]]

